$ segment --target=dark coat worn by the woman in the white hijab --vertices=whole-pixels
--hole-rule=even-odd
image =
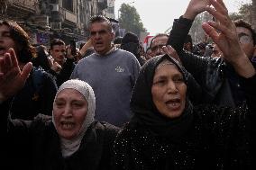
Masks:
[[[78,151],[63,158],[59,135],[50,116],[34,121],[11,120],[7,127],[8,169],[98,170],[109,169],[112,144],[117,128],[94,122],[81,141]]]

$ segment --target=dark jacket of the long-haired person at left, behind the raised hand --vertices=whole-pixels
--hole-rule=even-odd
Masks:
[[[12,99],[12,118],[32,120],[39,113],[51,114],[56,92],[53,76],[41,68],[33,67],[25,85]]]

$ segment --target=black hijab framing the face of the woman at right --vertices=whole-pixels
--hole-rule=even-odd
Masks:
[[[189,125],[193,120],[193,106],[187,97],[186,106],[182,114],[176,119],[169,119],[160,114],[153,103],[151,86],[153,83],[155,69],[163,60],[166,59],[178,67],[178,70],[184,76],[184,80],[187,85],[187,81],[191,75],[184,67],[181,67],[178,64],[178,61],[174,58],[170,58],[168,55],[160,55],[148,60],[142,67],[136,84],[133,87],[133,94],[130,103],[133,118],[130,121],[130,124],[146,126],[154,135],[165,136],[168,138],[172,137],[173,139],[173,137],[181,136],[189,128]],[[189,91],[188,88],[189,87],[187,86],[187,93]]]

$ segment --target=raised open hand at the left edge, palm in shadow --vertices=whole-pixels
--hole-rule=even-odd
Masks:
[[[0,102],[16,94],[26,82],[32,63],[27,63],[21,71],[14,49],[9,49],[3,58],[0,58]]]

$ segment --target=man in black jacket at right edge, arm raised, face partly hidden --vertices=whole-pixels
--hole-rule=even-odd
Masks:
[[[197,83],[206,92],[204,96],[200,96],[201,103],[215,103],[219,106],[239,106],[245,102],[244,89],[241,87],[241,77],[235,73],[229,61],[224,60],[222,57],[200,58],[183,50],[183,41],[186,39],[195,17],[198,13],[205,11],[206,5],[206,1],[191,0],[186,12],[178,20],[174,21],[167,44],[178,52],[178,57],[183,66],[194,76]],[[243,51],[251,59],[256,44],[255,31],[251,29],[249,23],[242,20],[233,23],[238,35],[238,37],[233,38],[239,39]],[[215,22],[215,24],[218,23]]]

